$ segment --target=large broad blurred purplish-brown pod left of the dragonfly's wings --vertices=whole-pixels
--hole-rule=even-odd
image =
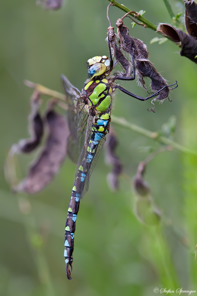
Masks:
[[[53,110],[53,104],[46,115],[48,138],[38,159],[30,166],[27,177],[13,189],[34,194],[43,189],[58,173],[66,155],[69,128],[64,116]]]

